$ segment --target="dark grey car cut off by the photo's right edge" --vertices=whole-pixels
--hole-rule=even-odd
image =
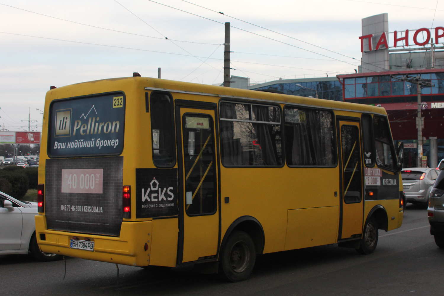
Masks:
[[[441,171],[430,190],[427,209],[430,234],[438,247],[444,248],[444,171]]]

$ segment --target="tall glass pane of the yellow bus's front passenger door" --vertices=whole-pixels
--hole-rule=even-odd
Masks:
[[[342,166],[344,170],[344,202],[361,201],[361,160],[357,126],[341,126]]]

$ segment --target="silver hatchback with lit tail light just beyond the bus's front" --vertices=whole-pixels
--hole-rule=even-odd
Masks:
[[[427,205],[428,196],[439,170],[431,168],[406,168],[401,171],[405,199],[414,205]]]

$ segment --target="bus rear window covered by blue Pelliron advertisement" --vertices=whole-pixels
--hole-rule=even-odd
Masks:
[[[125,130],[123,92],[55,100],[49,115],[49,157],[122,153]]]

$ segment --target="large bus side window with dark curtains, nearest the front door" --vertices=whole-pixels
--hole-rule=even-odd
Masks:
[[[287,164],[334,166],[336,154],[332,113],[287,106],[284,114]]]

